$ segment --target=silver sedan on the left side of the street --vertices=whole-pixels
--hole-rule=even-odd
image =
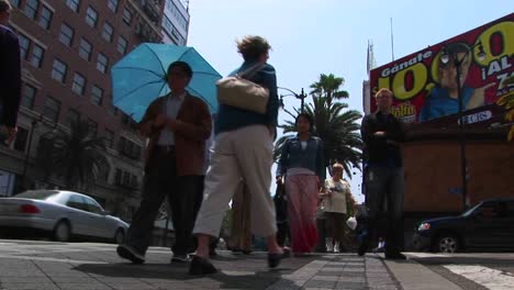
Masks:
[[[128,224],[111,216],[92,198],[72,191],[32,190],[0,198],[0,231],[43,232],[55,241],[72,237],[122,243]]]

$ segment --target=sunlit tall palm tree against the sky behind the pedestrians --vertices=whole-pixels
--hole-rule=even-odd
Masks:
[[[314,120],[314,135],[324,142],[325,167],[338,161],[351,178],[351,169],[360,169],[362,141],[358,133],[358,120],[362,115],[358,111],[347,110],[347,103],[337,101],[348,98],[348,92],[339,90],[343,82],[343,78],[322,74],[320,81],[311,86],[314,88],[311,92],[313,102],[306,105],[304,112]],[[300,113],[298,109],[295,112]],[[280,127],[284,133],[295,132],[294,121],[286,121]],[[283,143],[291,136],[292,134],[287,134],[277,141],[275,159],[280,157]]]

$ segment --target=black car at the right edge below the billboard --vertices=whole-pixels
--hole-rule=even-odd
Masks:
[[[514,198],[488,199],[458,216],[426,220],[413,236],[417,250],[514,250]]]

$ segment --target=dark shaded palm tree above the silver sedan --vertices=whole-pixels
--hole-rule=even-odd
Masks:
[[[69,189],[94,180],[109,166],[104,138],[94,136],[86,121],[72,121],[69,132],[48,132],[43,138],[46,145],[40,150],[40,166],[52,168]]]

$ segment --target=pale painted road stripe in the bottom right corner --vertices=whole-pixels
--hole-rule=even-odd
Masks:
[[[514,276],[509,272],[479,265],[446,265],[451,272],[460,275],[476,283],[492,290],[512,290]]]

